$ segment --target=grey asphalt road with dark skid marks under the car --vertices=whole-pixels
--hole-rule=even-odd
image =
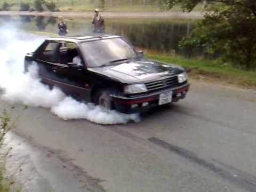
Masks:
[[[23,162],[21,178],[37,186],[28,191],[256,191],[255,98],[192,82],[185,100],[112,126],[28,108],[10,136],[9,167]]]

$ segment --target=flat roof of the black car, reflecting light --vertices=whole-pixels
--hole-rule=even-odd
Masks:
[[[47,41],[66,41],[66,42],[87,42],[87,41],[95,41],[98,39],[107,39],[107,38],[120,38],[118,35],[109,35],[109,34],[89,34],[83,36],[61,36],[61,37],[52,37],[47,38]]]

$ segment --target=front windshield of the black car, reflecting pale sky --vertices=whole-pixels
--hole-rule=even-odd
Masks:
[[[101,39],[81,44],[82,54],[89,67],[113,65],[136,57],[132,47],[121,38]]]

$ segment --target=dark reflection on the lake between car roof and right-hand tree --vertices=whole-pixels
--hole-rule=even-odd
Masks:
[[[128,25],[120,23],[114,27],[114,32],[126,37],[135,46],[162,52],[179,52],[179,41],[187,35],[187,29],[186,23],[166,21]]]

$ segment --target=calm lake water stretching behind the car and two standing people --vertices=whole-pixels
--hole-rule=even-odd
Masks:
[[[69,35],[92,33],[91,18],[65,18]],[[58,19],[43,16],[1,16],[0,25],[18,29],[58,33]],[[180,53],[179,41],[194,28],[190,19],[105,19],[107,34],[121,35],[134,46],[153,52]]]

